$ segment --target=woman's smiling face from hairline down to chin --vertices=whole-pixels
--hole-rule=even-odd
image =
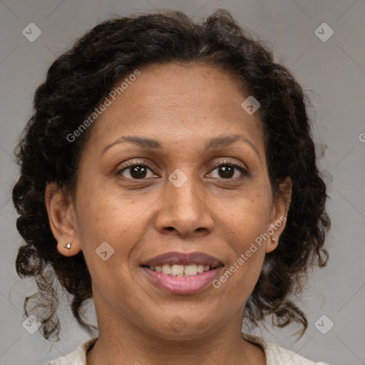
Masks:
[[[97,314],[165,338],[197,338],[241,319],[277,245],[260,235],[279,239],[287,210],[272,200],[259,112],[242,108],[249,95],[230,74],[204,64],[139,71],[94,122],[58,250],[83,251]],[[239,137],[220,140],[227,136]],[[143,266],[165,262],[169,272],[183,262],[177,253],[191,265],[171,269],[187,277]],[[195,274],[209,264],[201,254],[217,262]]]

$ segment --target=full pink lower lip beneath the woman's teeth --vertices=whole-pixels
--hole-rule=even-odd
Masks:
[[[215,277],[218,276],[222,266],[189,277],[170,277],[168,274],[153,271],[148,267],[142,268],[148,277],[166,292],[173,294],[194,294],[208,287]]]

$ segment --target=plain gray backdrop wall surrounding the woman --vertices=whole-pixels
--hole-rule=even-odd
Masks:
[[[29,334],[22,326],[24,297],[35,288],[31,279],[19,280],[15,271],[21,237],[10,198],[18,176],[12,152],[31,115],[34,91],[51,62],[99,21],[165,7],[196,16],[218,7],[232,11],[241,24],[269,42],[277,61],[289,67],[312,98],[314,140],[318,150],[326,147],[319,165],[331,196],[330,260],[310,277],[302,304],[309,329],[300,341],[289,336],[294,327],[255,333],[316,361],[365,364],[364,0],[0,1],[0,364],[43,364],[88,339],[65,304],[59,311],[61,341],[46,341],[39,331]],[[22,34],[32,22],[42,32],[34,42]],[[314,33],[324,22],[334,31],[327,41]],[[95,321],[92,303],[90,309]],[[317,322],[323,315],[327,317]],[[330,321],[334,327],[322,334],[317,328],[328,329]]]

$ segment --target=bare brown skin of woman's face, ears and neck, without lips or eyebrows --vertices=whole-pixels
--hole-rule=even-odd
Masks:
[[[274,232],[277,242],[257,246],[220,288],[170,294],[140,267],[165,252],[199,251],[229,268],[256,237],[287,216],[287,203],[272,199],[259,113],[242,109],[249,94],[218,67],[168,63],[139,70],[94,122],[76,201],[54,184],[46,189],[58,251],[71,256],[82,250],[91,273],[99,338],[87,363],[265,364],[262,349],[240,336],[242,316],[264,255],[277,247],[284,223]],[[236,134],[257,152],[242,141],[205,151],[211,138]],[[125,135],[154,138],[163,147],[118,143],[102,154]],[[235,169],[226,178],[217,165],[227,160],[250,176]],[[117,175],[127,161],[150,165],[143,179],[133,179],[130,168]],[[168,180],[177,168],[187,176],[181,187]],[[290,200],[289,178],[282,187]],[[68,242],[70,250],[63,247]],[[96,255],[102,242],[114,249],[106,261]],[[178,333],[171,325],[176,315],[186,324]]]

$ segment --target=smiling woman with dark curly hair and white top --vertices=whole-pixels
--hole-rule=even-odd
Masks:
[[[323,364],[252,334],[324,267],[330,220],[304,94],[218,10],[99,24],[48,70],[19,141],[16,269],[46,339],[57,278],[98,336],[49,364]],[[39,302],[39,299],[41,302]]]

